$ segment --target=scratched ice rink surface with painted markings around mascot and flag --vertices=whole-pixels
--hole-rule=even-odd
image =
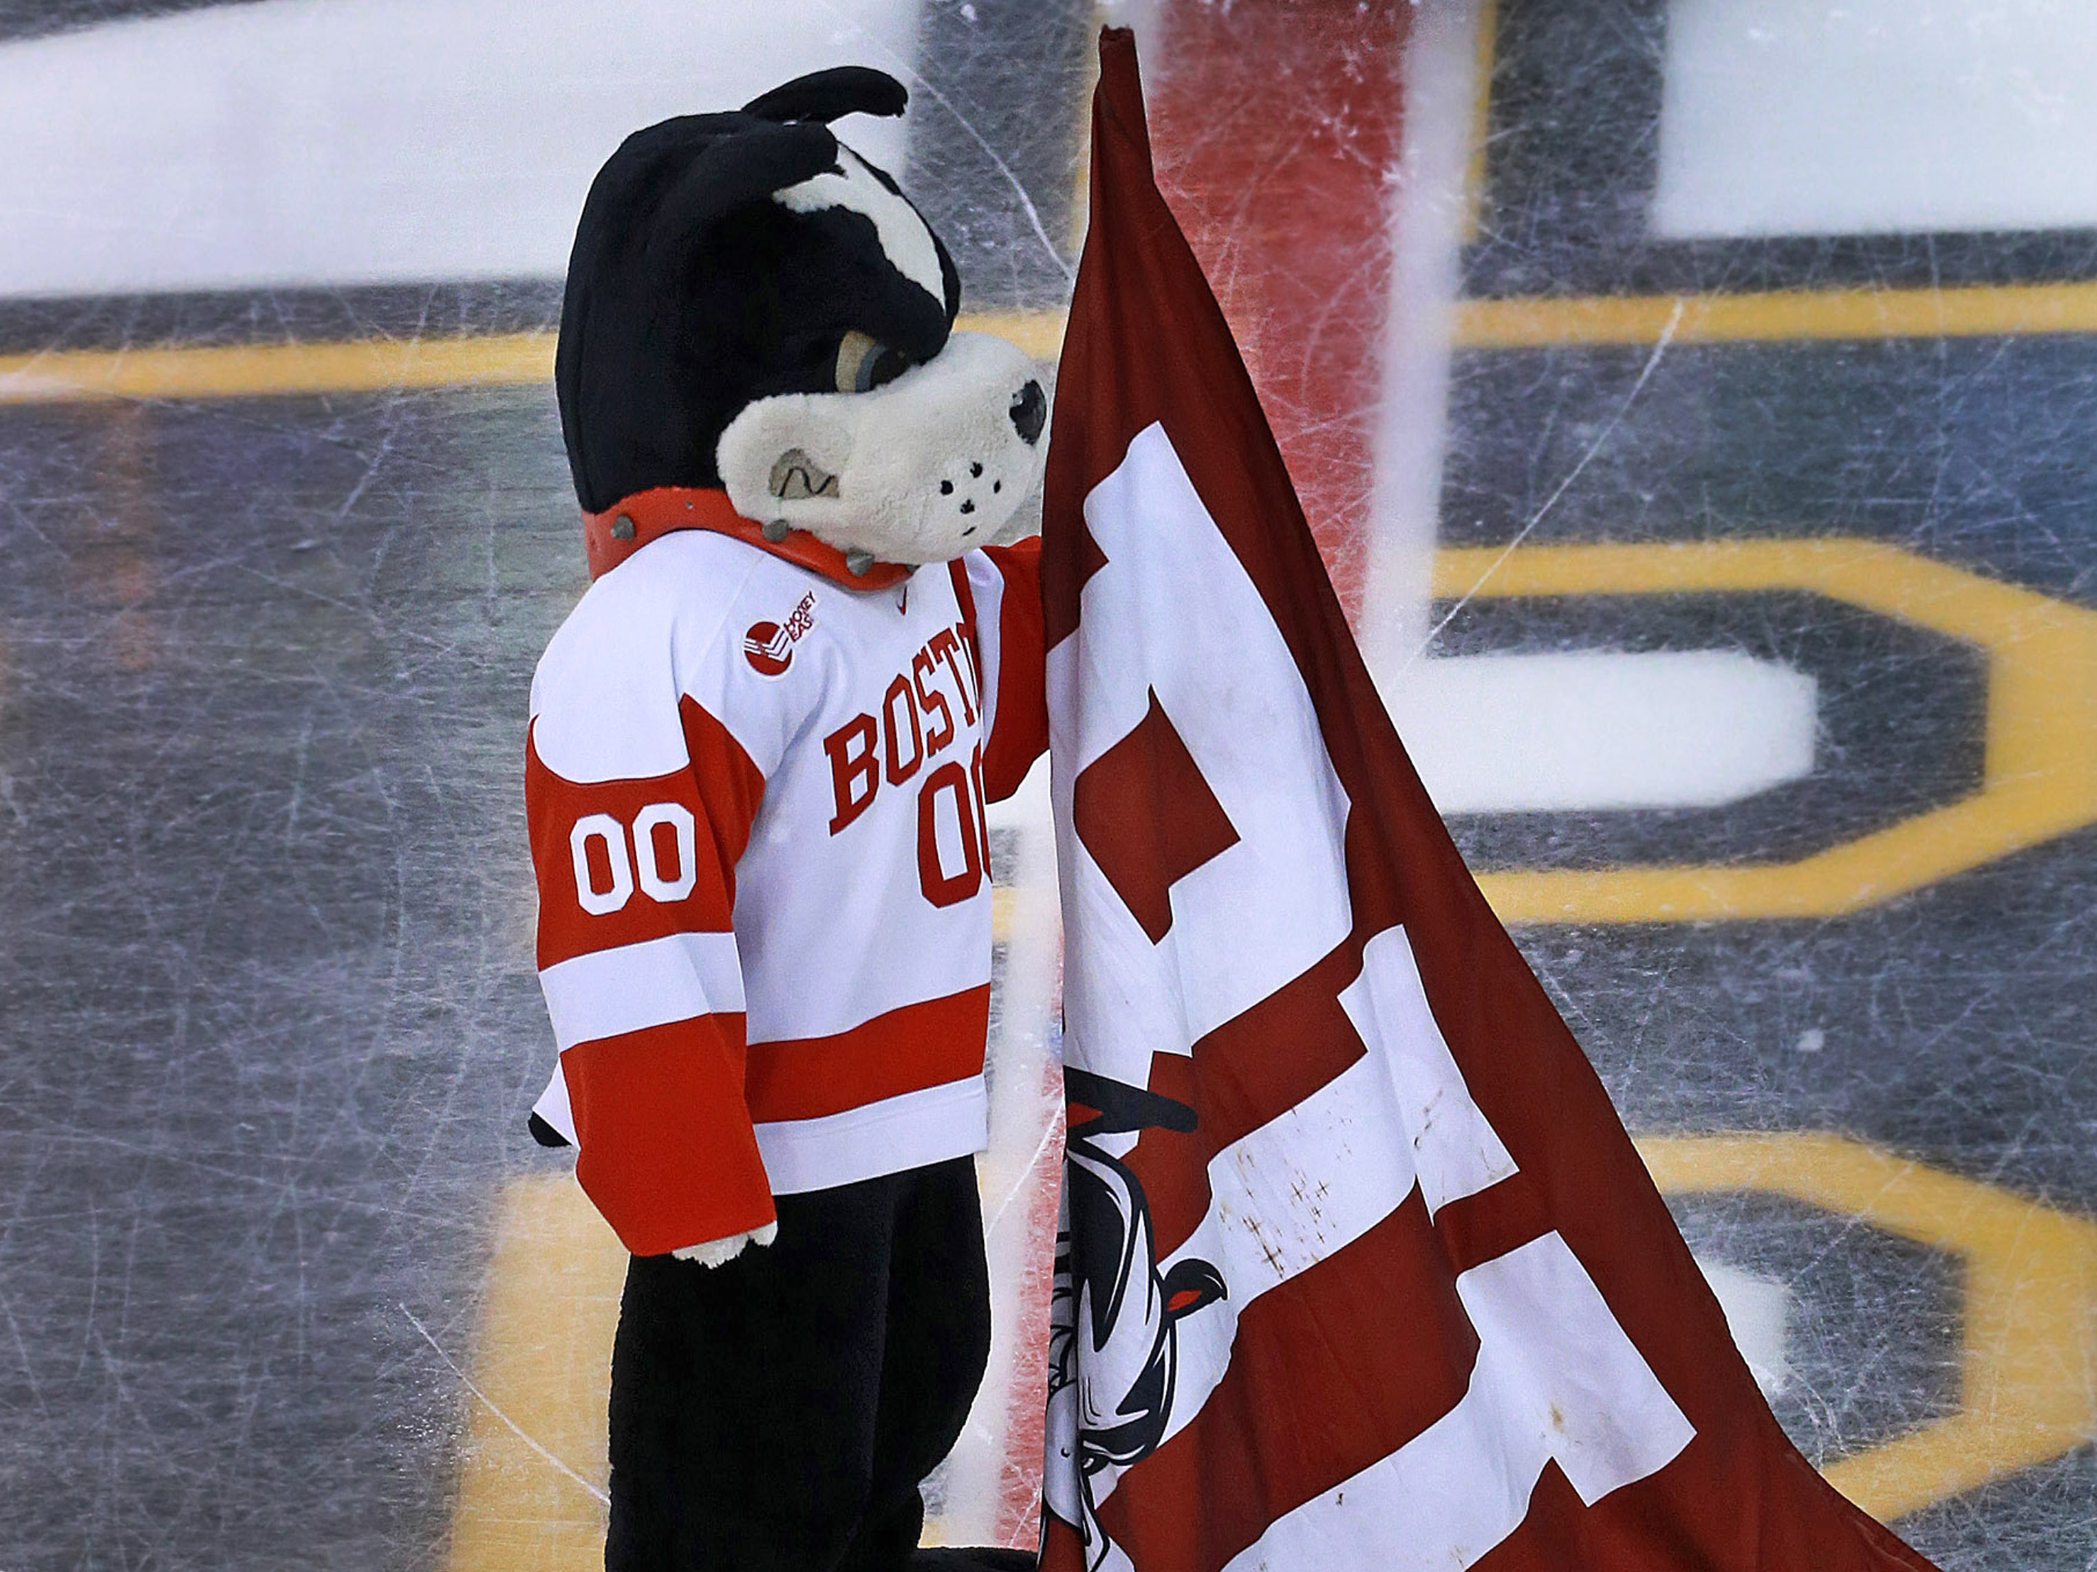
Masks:
[[[593,1564],[621,1258],[524,1134],[520,782],[617,138],[895,71],[845,136],[1053,363],[1088,2],[583,15],[0,4],[6,1572]],[[1118,15],[1392,713],[1778,1417],[1952,1572],[2097,1566],[2097,15]],[[1025,1543],[1038,796],[994,851],[1000,1344],[935,1530]]]

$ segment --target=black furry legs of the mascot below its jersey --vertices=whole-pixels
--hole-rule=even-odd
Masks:
[[[637,1256],[612,1346],[608,1572],[1030,1568],[916,1551],[990,1354],[975,1161],[782,1195],[726,1266]]]

